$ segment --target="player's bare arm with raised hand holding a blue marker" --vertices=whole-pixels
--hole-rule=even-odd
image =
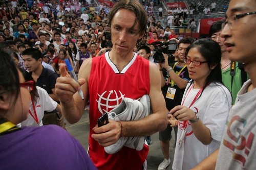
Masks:
[[[57,79],[55,91],[61,104],[61,113],[71,124],[78,122],[89,100],[88,79],[91,71],[91,61],[91,59],[87,59],[81,65],[78,74],[78,81],[81,86],[69,76],[65,67],[60,66],[61,77]],[[77,92],[80,88],[84,100]]]

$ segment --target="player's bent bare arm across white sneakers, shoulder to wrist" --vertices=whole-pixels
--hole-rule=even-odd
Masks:
[[[152,114],[132,122],[122,122],[124,136],[148,136],[167,127],[168,111],[161,91],[161,75],[158,67],[150,62],[150,100]],[[136,131],[135,131],[136,129]]]

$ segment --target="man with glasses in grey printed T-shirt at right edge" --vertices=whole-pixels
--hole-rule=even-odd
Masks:
[[[243,62],[250,80],[238,92],[237,103],[230,110],[220,149],[194,169],[256,169],[255,14],[255,0],[230,1],[221,36],[229,59]]]

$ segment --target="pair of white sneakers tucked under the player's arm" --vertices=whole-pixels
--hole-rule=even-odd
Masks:
[[[148,95],[143,95],[140,98],[140,101],[130,98],[123,98],[120,105],[111,110],[108,115],[109,119],[115,121],[131,121],[142,119],[149,113],[150,97]],[[104,150],[108,154],[115,154],[125,145],[126,147],[140,151],[143,149],[144,141],[145,137],[143,136],[120,137],[115,144],[112,144],[109,147],[104,147]]]

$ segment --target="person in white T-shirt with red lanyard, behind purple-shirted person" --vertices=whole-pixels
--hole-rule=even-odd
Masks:
[[[61,112],[60,105],[50,98],[45,89],[36,86],[32,76],[25,69],[19,69],[22,72],[31,95],[28,118],[21,123],[21,126],[42,126],[42,118],[45,111],[51,112],[55,109]]]

